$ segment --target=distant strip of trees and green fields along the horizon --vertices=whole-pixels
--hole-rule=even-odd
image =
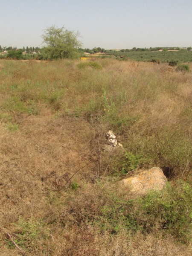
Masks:
[[[1,47],[0,46],[0,58],[8,59],[49,59],[46,52],[46,47],[23,47],[17,49],[17,47]],[[104,53],[103,58],[113,55],[116,58],[122,57],[122,60],[134,59],[136,61],[153,61],[153,62],[169,62],[170,60],[191,62],[192,61],[192,47],[180,48],[180,47],[150,47],[150,48],[136,48],[132,49],[104,49],[101,47],[89,48],[76,48],[79,58],[84,53],[95,54],[98,52]],[[159,51],[161,50],[161,52]],[[178,51],[178,52],[168,52]],[[79,53],[78,53],[79,52]],[[188,54],[189,53],[189,54]],[[123,55],[123,56],[122,56]]]

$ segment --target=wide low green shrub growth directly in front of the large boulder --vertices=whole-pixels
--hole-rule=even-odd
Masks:
[[[129,200],[114,191],[105,191],[101,201],[105,203],[100,206],[99,216],[90,219],[101,232],[117,234],[124,229],[140,230],[170,234],[184,244],[192,240],[192,187],[183,180],[174,186],[167,183],[160,192],[151,191],[142,198]],[[85,215],[88,216],[87,212]]]

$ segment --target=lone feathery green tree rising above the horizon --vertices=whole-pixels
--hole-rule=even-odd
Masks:
[[[81,47],[79,41],[79,32],[70,31],[62,26],[61,28],[55,25],[45,29],[42,35],[43,43],[46,47],[43,48],[45,58],[76,58],[78,56],[78,48]]]

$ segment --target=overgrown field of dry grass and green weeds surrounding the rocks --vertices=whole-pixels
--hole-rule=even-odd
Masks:
[[[0,60],[0,255],[192,255],[189,68]],[[161,192],[119,188],[154,166]]]

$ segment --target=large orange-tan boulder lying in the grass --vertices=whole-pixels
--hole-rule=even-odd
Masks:
[[[129,195],[145,195],[148,190],[161,190],[167,181],[162,169],[153,167],[149,170],[139,171],[133,177],[120,181],[123,188],[127,188]]]

